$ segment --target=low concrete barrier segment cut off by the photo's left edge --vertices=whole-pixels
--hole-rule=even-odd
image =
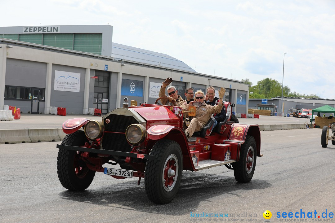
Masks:
[[[0,144],[28,143],[28,129],[0,129]]]

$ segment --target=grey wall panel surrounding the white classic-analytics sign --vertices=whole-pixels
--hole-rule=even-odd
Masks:
[[[55,91],[55,71],[80,73],[79,92]],[[82,114],[84,108],[85,69],[54,64],[52,66],[50,106],[66,108],[67,114]],[[40,108],[41,109],[41,108]]]

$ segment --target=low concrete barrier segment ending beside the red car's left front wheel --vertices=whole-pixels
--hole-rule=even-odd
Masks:
[[[55,142],[60,141],[57,128],[28,129],[31,142]]]

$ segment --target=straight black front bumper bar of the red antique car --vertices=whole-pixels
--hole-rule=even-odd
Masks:
[[[132,157],[132,158],[137,158],[137,154],[138,154],[138,153],[132,153],[132,152],[120,152],[120,151],[114,151],[114,150],[94,149],[94,148],[72,146],[72,145],[60,145],[60,144],[57,144],[56,147],[58,149],[68,149],[68,150],[81,151],[81,152],[100,153],[100,154],[108,154],[108,155]],[[143,159],[156,159],[156,156],[155,155],[146,155],[146,154],[144,154]]]

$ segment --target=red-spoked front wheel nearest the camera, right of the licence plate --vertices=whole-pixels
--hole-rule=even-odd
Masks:
[[[176,196],[183,173],[183,156],[179,144],[173,140],[157,141],[145,167],[144,186],[150,201],[166,204]]]

